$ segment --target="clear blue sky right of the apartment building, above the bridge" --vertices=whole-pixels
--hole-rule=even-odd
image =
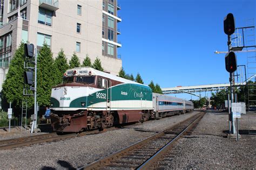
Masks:
[[[254,18],[255,1],[167,1],[118,0],[123,67],[126,73],[140,73],[144,84],[151,80],[160,87],[227,83],[225,69],[227,36],[223,20],[233,13],[235,25],[243,27]],[[237,54],[238,64],[246,55]],[[187,97],[186,97],[187,98]]]

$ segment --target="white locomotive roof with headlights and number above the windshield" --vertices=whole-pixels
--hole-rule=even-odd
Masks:
[[[73,72],[75,70],[76,70],[76,73],[73,74]],[[140,83],[137,83],[137,82],[134,82],[134,81],[131,81],[131,80],[124,79],[122,77],[118,77],[116,75],[101,72],[101,71],[99,71],[97,69],[94,69],[94,68],[91,68],[91,67],[76,67],[76,68],[73,68],[73,69],[66,70],[65,73],[66,73],[66,76],[79,76],[79,75],[89,75],[90,71],[91,71],[90,75],[99,75],[99,76],[106,77],[106,78],[109,78],[111,80],[116,80],[116,81],[123,82],[123,83],[140,84]],[[140,85],[149,87],[145,84],[140,84]]]

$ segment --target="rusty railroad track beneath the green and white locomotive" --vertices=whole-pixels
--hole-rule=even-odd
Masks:
[[[126,128],[134,125],[137,125],[137,124],[135,123],[135,124],[127,124],[124,126],[120,126],[120,125],[113,126],[113,127],[104,129],[103,131],[93,130],[93,131],[85,131],[81,133],[70,133],[70,134],[62,134],[62,135],[58,135],[57,133],[47,133],[47,134],[38,134],[36,136],[0,140],[0,150],[8,150],[15,147],[30,146],[33,144],[39,144],[39,143],[45,143],[45,142],[51,142],[51,141],[57,141],[57,140],[65,140],[65,139],[82,137],[82,136],[91,135],[91,134],[99,134],[106,131]]]

